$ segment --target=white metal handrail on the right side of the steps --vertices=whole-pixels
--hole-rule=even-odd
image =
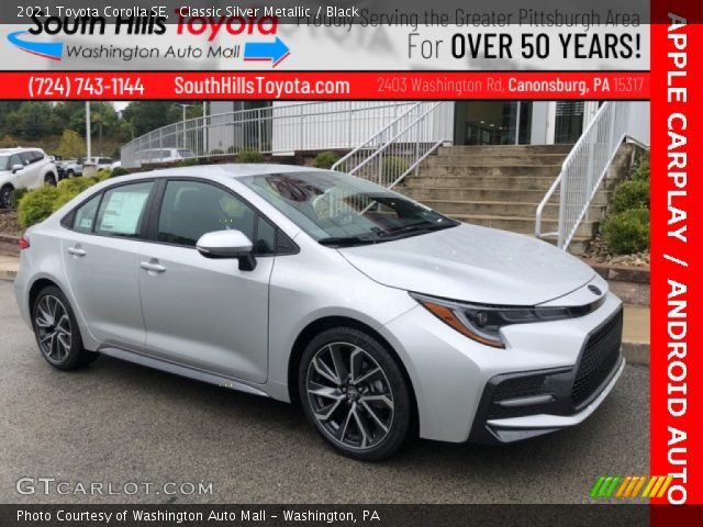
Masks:
[[[626,139],[643,145],[649,143],[649,109],[644,108],[646,104],[609,101],[601,105],[537,205],[536,237],[557,238],[559,248],[566,250],[569,247],[621,144]],[[558,229],[545,233],[542,231],[544,209],[557,190],[560,192]]]

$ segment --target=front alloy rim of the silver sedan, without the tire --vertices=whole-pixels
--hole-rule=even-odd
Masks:
[[[308,400],[320,428],[345,448],[366,450],[388,436],[395,411],[383,369],[348,343],[319,349],[308,367]]]

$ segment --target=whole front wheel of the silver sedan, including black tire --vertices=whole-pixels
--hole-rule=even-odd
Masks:
[[[410,386],[393,355],[361,330],[338,327],[314,337],[303,351],[298,386],[310,423],[347,457],[389,458],[410,435]]]

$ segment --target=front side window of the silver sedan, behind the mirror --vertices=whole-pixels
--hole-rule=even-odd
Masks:
[[[256,255],[271,254],[276,229],[234,194],[201,181],[169,181],[158,221],[159,242],[194,247],[214,231],[242,231]]]

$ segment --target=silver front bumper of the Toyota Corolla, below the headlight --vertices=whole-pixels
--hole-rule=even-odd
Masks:
[[[606,291],[607,284],[600,281],[596,284]],[[573,294],[579,295],[580,292]],[[592,293],[589,292],[589,295],[592,296]],[[570,296],[559,302],[569,305],[567,302]],[[503,334],[507,343],[505,349],[488,348],[465,337],[420,305],[388,323],[381,333],[398,351],[412,382],[420,436],[449,442],[507,442],[583,421],[612,390],[611,382],[615,384],[623,366],[621,335],[617,334],[616,357],[605,363],[602,370],[605,374],[600,375],[603,382],[589,383],[581,395],[576,395],[577,404],[570,403],[584,344],[594,332],[622,312],[622,303],[615,295],[605,293],[603,299],[601,307],[581,317],[507,326]],[[576,299],[574,305],[582,303],[581,299]],[[488,406],[492,397],[488,399],[486,392],[494,381],[537,373],[553,377],[546,385],[542,382],[536,385],[536,389],[546,388],[548,393],[555,395],[555,401],[549,400],[549,405],[537,400],[542,401],[540,405],[523,412],[504,412],[501,415],[489,412],[493,410]],[[544,395],[544,391],[517,395]],[[604,395],[600,397],[602,393]],[[545,418],[545,415],[549,418]],[[553,419],[553,416],[558,419]],[[495,425],[493,421],[516,417],[529,417],[529,422],[522,419],[499,423],[504,425],[500,427],[487,427],[489,421]],[[521,428],[527,428],[528,433],[518,437],[517,434],[505,431],[496,436],[492,431],[520,431]],[[533,434],[533,430],[540,431]]]

